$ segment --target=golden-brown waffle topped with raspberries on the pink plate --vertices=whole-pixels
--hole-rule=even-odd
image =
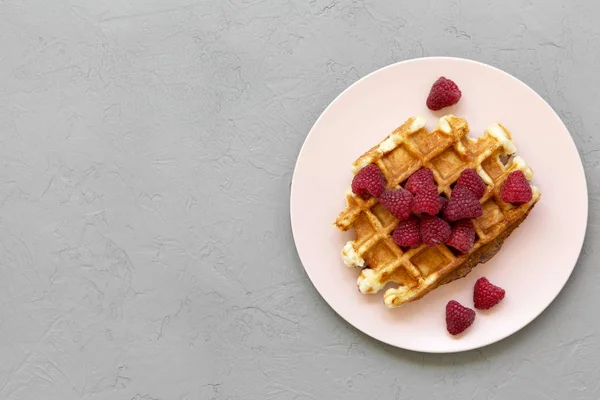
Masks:
[[[500,189],[510,172],[518,169],[528,180],[533,178],[533,171],[523,159],[513,156],[516,147],[501,124],[490,125],[484,135],[472,139],[467,136],[469,126],[463,118],[446,115],[431,132],[425,123],[423,117],[410,118],[358,158],[352,165],[353,172],[376,164],[387,180],[387,189],[396,189],[419,168],[426,167],[433,171],[440,194],[449,198],[460,173],[474,168],[487,186],[481,198],[483,215],[473,220],[477,236],[468,253],[460,254],[444,244],[403,249],[391,237],[398,220],[376,198],[365,200],[349,189],[347,207],[334,225],[342,231],[354,228],[356,239],[346,243],[342,258],[348,266],[363,268],[357,281],[362,293],[377,293],[388,283],[394,284],[384,294],[388,307],[420,299],[488,261],[540,198],[536,187],[526,204],[513,206],[500,198]]]

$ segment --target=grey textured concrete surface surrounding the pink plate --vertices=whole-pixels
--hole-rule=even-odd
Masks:
[[[599,18],[595,0],[0,0],[0,399],[600,398]],[[348,326],[289,225],[322,110],[428,55],[531,85],[590,190],[558,299],[457,355]]]

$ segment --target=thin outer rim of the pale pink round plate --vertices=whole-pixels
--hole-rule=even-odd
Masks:
[[[538,313],[533,313],[531,319],[526,319],[526,322],[523,323],[521,326],[517,326],[516,329],[514,329],[512,332],[510,332],[509,334],[507,334],[506,336],[500,337],[500,338],[493,338],[491,340],[487,340],[484,341],[483,343],[480,344],[476,344],[476,345],[472,345],[472,346],[463,346],[463,347],[459,347],[459,348],[454,348],[454,349],[447,349],[447,350],[429,350],[429,349],[424,349],[424,348],[419,348],[417,346],[408,346],[408,347],[404,347],[404,346],[400,346],[397,343],[391,343],[388,340],[384,340],[380,337],[376,337],[371,335],[370,333],[365,332],[364,330],[362,330],[361,328],[357,327],[355,324],[353,324],[352,322],[350,322],[340,311],[338,311],[336,308],[334,308],[331,303],[327,300],[327,298],[323,295],[323,293],[321,293],[321,290],[317,287],[317,285],[315,285],[315,282],[313,280],[313,278],[311,277],[311,273],[308,271],[308,269],[306,268],[306,266],[304,265],[304,261],[302,259],[302,255],[300,254],[300,251],[298,250],[298,246],[296,243],[296,229],[295,226],[296,223],[294,222],[294,214],[293,214],[293,209],[294,209],[294,188],[296,187],[296,174],[297,174],[297,170],[298,170],[298,164],[300,162],[300,159],[302,158],[303,153],[306,151],[306,143],[308,142],[309,138],[311,137],[312,134],[314,134],[314,130],[315,127],[319,124],[319,122],[321,121],[321,119],[325,116],[325,114],[327,114],[327,112],[332,108],[332,106],[334,104],[336,104],[343,96],[346,92],[348,92],[350,89],[352,89],[353,87],[355,87],[356,85],[360,84],[361,82],[363,82],[364,80],[368,79],[369,77],[383,72],[386,69],[389,68],[394,68],[398,65],[401,64],[409,64],[409,63],[414,63],[414,62],[422,62],[422,61],[436,61],[436,60],[440,60],[440,61],[444,61],[444,60],[454,60],[454,61],[459,61],[459,62],[467,62],[467,63],[472,63],[472,64],[476,64],[479,67],[483,67],[483,68],[491,68],[493,70],[495,70],[496,72],[499,72],[503,75],[505,75],[506,77],[513,79],[514,81],[517,82],[517,84],[522,85],[526,90],[529,90],[530,92],[532,92],[535,96],[537,96],[540,100],[542,100],[544,107],[546,107],[547,109],[549,109],[551,111],[551,113],[553,114],[554,118],[558,121],[559,124],[561,124],[564,129],[567,131],[567,133],[569,134],[569,139],[570,139],[570,143],[573,146],[573,149],[576,151],[577,156],[579,158],[579,163],[578,163],[578,167],[583,175],[583,189],[585,190],[585,223],[582,229],[582,233],[580,235],[579,238],[577,239],[577,248],[578,248],[578,254],[577,257],[573,263],[573,265],[570,267],[570,270],[568,272],[568,274],[566,275],[566,278],[564,280],[564,282],[561,283],[560,289],[556,292],[556,294],[554,296],[552,296],[549,301],[540,308],[540,311]],[[469,59],[469,58],[463,58],[463,57],[450,57],[450,56],[430,56],[430,57],[418,57],[418,58],[411,58],[411,59],[407,59],[407,60],[403,60],[403,61],[399,61],[399,62],[395,62],[392,64],[388,64],[386,66],[383,66],[381,68],[378,68],[376,70],[373,70],[371,72],[369,72],[368,74],[362,76],[360,79],[354,81],[353,83],[351,83],[350,85],[348,85],[348,87],[346,87],[344,90],[342,90],[328,105],[327,107],[325,107],[323,109],[323,111],[321,112],[321,114],[319,115],[319,117],[315,120],[315,122],[313,123],[313,125],[311,126],[310,130],[308,131],[308,134],[306,135],[306,137],[304,138],[304,141],[302,142],[302,146],[300,147],[300,151],[298,152],[297,158],[296,158],[296,162],[294,163],[294,171],[292,174],[292,181],[290,184],[290,225],[291,225],[291,230],[292,230],[292,238],[294,240],[294,247],[296,248],[296,253],[298,254],[298,258],[300,260],[300,263],[302,264],[302,268],[304,269],[304,272],[306,273],[306,275],[308,276],[311,284],[313,285],[313,287],[316,289],[317,293],[319,293],[319,295],[321,296],[321,298],[325,301],[325,303],[327,303],[327,305],[329,306],[329,308],[331,308],[338,316],[340,316],[347,324],[351,325],[354,329],[362,332],[364,335],[367,335],[381,343],[385,343],[389,346],[393,346],[399,349],[403,349],[403,350],[408,350],[408,351],[413,351],[413,352],[421,352],[421,353],[430,353],[430,354],[452,354],[452,353],[460,353],[460,352],[465,352],[465,351],[469,351],[469,350],[475,350],[475,349],[480,349],[486,346],[489,346],[491,344],[494,343],[498,343],[506,338],[509,338],[511,336],[513,336],[515,333],[521,331],[522,329],[524,329],[525,327],[527,327],[529,324],[531,324],[535,319],[537,319],[544,311],[546,311],[548,309],[548,307],[557,299],[557,297],[560,295],[560,293],[564,290],[567,282],[569,281],[569,279],[571,278],[573,271],[575,270],[575,267],[577,266],[577,263],[579,262],[579,258],[581,257],[581,251],[583,249],[583,244],[585,242],[585,237],[587,235],[587,228],[588,228],[588,219],[589,219],[589,190],[588,190],[588,184],[587,184],[587,176],[585,173],[585,168],[583,166],[583,161],[581,159],[581,154],[579,152],[579,149],[577,148],[577,145],[575,144],[575,140],[573,139],[573,135],[571,134],[571,132],[569,131],[569,129],[567,128],[567,126],[565,125],[565,123],[563,122],[563,120],[560,118],[560,116],[558,115],[558,113],[556,112],[556,110],[554,110],[554,108],[552,108],[552,106],[546,101],[546,99],[544,99],[539,93],[537,93],[533,88],[531,88],[529,85],[527,85],[525,82],[523,82],[522,80],[520,80],[519,78],[515,77],[514,75],[498,68],[495,67],[493,65],[481,62],[481,61],[477,61],[477,60],[473,60],[473,59]],[[465,342],[467,343],[467,342]]]

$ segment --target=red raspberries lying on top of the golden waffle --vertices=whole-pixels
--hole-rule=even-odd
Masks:
[[[361,169],[352,180],[355,194],[379,198],[381,205],[398,218],[398,226],[392,232],[398,246],[414,248],[421,243],[427,246],[445,243],[461,253],[473,247],[476,234],[471,220],[481,217],[479,199],[487,189],[474,169],[462,171],[450,200],[438,194],[433,172],[427,168],[412,174],[403,188],[386,190],[385,187],[385,177],[375,164]],[[529,202],[531,196],[523,172],[511,172],[502,187],[502,199],[522,204]]]

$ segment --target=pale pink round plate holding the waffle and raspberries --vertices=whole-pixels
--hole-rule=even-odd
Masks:
[[[425,100],[440,76],[454,80],[463,95],[455,106],[432,112]],[[340,251],[346,241],[355,238],[354,230],[340,232],[332,226],[346,206],[350,166],[406,119],[425,116],[432,129],[440,116],[450,113],[466,118],[473,136],[483,133],[492,122],[506,126],[517,154],[533,168],[542,197],[488,263],[421,300],[388,309],[383,304],[383,290],[361,294],[356,288],[360,270],[342,262]],[[294,171],[290,203],[298,254],[327,303],[367,335],[400,348],[432,353],[494,343],[537,317],[575,267],[588,212],[577,148],[552,108],[523,82],[499,69],[437,57],[390,65],[339,95],[306,137]],[[568,212],[565,204],[569,204]],[[445,305],[455,299],[472,307],[473,284],[481,276],[506,289],[506,297],[492,310],[478,312],[473,326],[452,337],[446,332]]]

